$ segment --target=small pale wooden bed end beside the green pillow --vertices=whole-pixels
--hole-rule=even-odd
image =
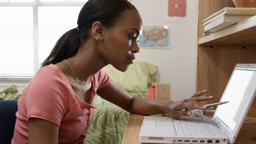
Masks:
[[[156,96],[156,100],[170,101],[171,85],[156,83],[155,96]]]

